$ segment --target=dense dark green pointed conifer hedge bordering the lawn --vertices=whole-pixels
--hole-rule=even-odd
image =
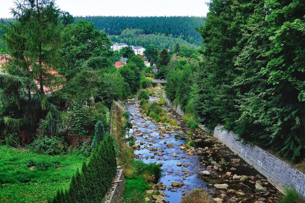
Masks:
[[[48,202],[102,202],[116,172],[117,161],[113,138],[107,135],[95,146],[88,163],[84,161],[81,170],[76,171],[69,189],[57,191],[56,197]]]

